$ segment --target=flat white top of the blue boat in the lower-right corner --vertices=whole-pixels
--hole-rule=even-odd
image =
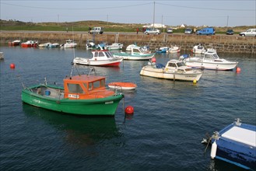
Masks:
[[[255,131],[247,130],[242,127],[231,127],[229,131],[222,134],[222,137],[256,147]]]

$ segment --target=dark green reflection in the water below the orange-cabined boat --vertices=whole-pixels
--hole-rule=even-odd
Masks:
[[[78,117],[44,110],[26,103],[23,103],[23,113],[30,119],[38,117],[51,124],[56,128],[56,134],[61,130],[65,141],[75,146],[86,147],[121,136],[114,117]]]

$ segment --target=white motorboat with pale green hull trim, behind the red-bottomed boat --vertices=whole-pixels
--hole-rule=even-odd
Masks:
[[[153,58],[155,53],[150,53],[142,47],[132,47],[132,52],[114,53],[113,56],[117,58],[124,58],[126,60],[148,60]]]

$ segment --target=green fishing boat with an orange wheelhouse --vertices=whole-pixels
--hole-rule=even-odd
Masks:
[[[75,75],[63,81],[64,87],[46,82],[24,87],[23,103],[62,113],[114,116],[124,98],[123,94],[106,89],[103,76]]]

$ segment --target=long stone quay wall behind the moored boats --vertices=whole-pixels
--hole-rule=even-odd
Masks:
[[[86,32],[54,32],[54,31],[1,31],[1,43],[7,44],[11,40],[37,40],[39,43],[64,44],[65,40],[71,39],[78,43],[79,47],[85,47],[86,40],[93,39],[96,44],[100,41],[108,44],[114,43],[117,33],[92,34]],[[213,35],[198,36],[184,33],[161,33],[160,35],[146,35],[144,33],[119,33],[118,43],[127,47],[129,44],[139,46],[149,45],[151,49],[158,47],[170,47],[177,45],[181,51],[191,51],[196,44],[203,44],[206,48],[215,48],[224,53],[256,54],[256,37],[240,37],[239,35]]]

